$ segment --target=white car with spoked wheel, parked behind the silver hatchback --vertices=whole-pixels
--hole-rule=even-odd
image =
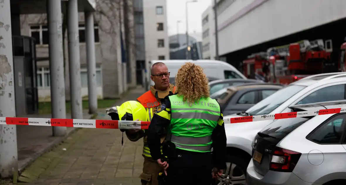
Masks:
[[[346,72],[316,74],[276,91],[243,113],[224,116],[276,114],[291,112],[290,106],[344,100]],[[218,184],[244,184],[246,168],[251,160],[251,143],[257,132],[272,121],[225,124],[227,136],[227,168]]]

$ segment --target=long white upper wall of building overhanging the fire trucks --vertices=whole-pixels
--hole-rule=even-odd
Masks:
[[[262,1],[262,5],[226,24],[242,8]],[[237,0],[218,16],[219,54],[345,18],[345,7],[345,0]]]

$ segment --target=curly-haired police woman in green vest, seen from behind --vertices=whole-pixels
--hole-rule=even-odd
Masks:
[[[151,156],[165,169],[167,184],[210,185],[212,178],[226,169],[220,105],[209,97],[208,78],[194,63],[185,63],[179,69],[175,84],[178,94],[164,98],[149,125]],[[160,137],[164,128],[167,136],[162,155]]]

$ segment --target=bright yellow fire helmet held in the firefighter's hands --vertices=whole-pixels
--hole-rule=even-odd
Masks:
[[[106,112],[108,115],[117,113],[119,120],[127,121],[147,121],[147,112],[142,104],[137,101],[127,101],[120,106],[107,108]],[[114,116],[112,116],[113,119]],[[116,116],[117,117],[117,116]]]

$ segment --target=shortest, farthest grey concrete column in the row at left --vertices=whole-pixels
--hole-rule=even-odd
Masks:
[[[86,63],[88,67],[88,97],[89,114],[97,111],[97,82],[96,82],[96,59],[95,59],[95,37],[94,37],[94,16],[92,12],[84,12],[85,17],[85,42],[86,42]]]

